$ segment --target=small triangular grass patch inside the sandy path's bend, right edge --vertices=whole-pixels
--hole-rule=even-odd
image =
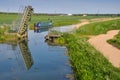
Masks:
[[[113,39],[108,40],[108,43],[120,49],[120,33],[118,33]]]

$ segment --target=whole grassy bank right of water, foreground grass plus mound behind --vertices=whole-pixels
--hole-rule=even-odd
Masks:
[[[120,79],[120,68],[113,67],[87,41],[87,35],[103,34],[112,29],[120,29],[120,20],[91,23],[82,26],[76,33],[64,33],[62,37],[55,40],[56,43],[67,47],[76,80]]]

